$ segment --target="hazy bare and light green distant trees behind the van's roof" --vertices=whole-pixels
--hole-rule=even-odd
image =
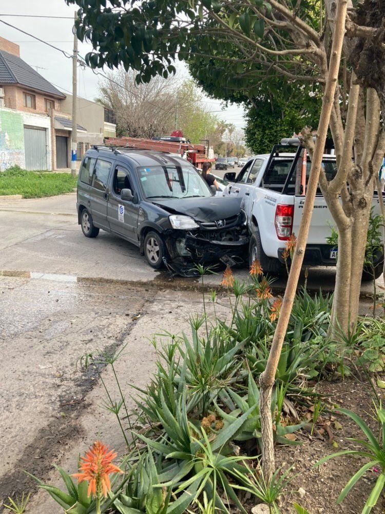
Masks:
[[[192,143],[208,139],[219,144],[222,122],[202,103],[203,95],[192,80],[155,77],[138,84],[136,72],[110,71],[100,85],[98,101],[113,109],[117,135],[151,138],[169,135],[179,128]]]

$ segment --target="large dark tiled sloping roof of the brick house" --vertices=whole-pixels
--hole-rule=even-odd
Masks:
[[[0,50],[0,84],[20,84],[57,98],[66,98],[23,59],[4,50]]]

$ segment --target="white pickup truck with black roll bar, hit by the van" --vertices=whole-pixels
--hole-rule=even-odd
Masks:
[[[282,149],[286,152],[282,153]],[[335,155],[324,154],[322,163],[326,177],[331,180],[337,170]],[[300,147],[296,150],[293,146],[275,145],[271,154],[249,159],[237,177],[231,172],[224,176],[232,183],[224,189],[223,195],[243,199],[251,232],[249,263],[258,259],[265,272],[279,273],[283,269],[285,243],[292,234],[298,233],[310,167],[309,158],[303,162]],[[379,213],[378,196],[373,197],[373,205]],[[326,243],[332,226],[335,226],[332,215],[318,190],[303,261],[305,266],[336,265],[337,249]],[[382,261],[381,253],[375,267],[378,276],[382,272]],[[363,278],[370,279],[370,276],[364,272]]]

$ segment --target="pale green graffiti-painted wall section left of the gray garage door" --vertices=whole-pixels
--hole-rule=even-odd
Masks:
[[[15,164],[25,168],[23,117],[0,109],[0,171]]]

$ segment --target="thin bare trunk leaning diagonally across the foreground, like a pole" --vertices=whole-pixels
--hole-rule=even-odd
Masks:
[[[262,468],[264,478],[270,482],[275,470],[273,425],[271,414],[271,395],[275,381],[278,361],[282,351],[282,344],[286,334],[288,321],[292,312],[293,302],[297,291],[299,274],[306,248],[307,236],[313,213],[314,200],[317,192],[318,179],[321,170],[323,150],[328,133],[330,116],[333,108],[334,93],[336,89],[338,70],[341,59],[343,36],[345,31],[345,18],[347,13],[346,0],[339,0],[335,17],[334,37],[329,63],[329,71],[326,77],[322,109],[318,125],[318,134],[315,144],[312,168],[307,186],[305,205],[299,227],[296,250],[293,263],[287,279],[285,294],[283,297],[281,313],[278,318],[272,347],[267,359],[266,369],[261,374],[261,429],[262,429]]]

